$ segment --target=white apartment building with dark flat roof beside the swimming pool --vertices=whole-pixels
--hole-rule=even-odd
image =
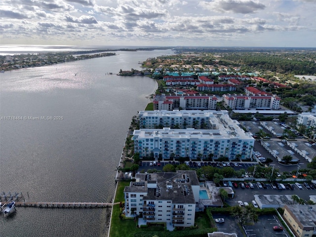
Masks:
[[[176,173],[136,174],[124,188],[125,215],[143,215],[146,222],[174,227],[194,226],[199,182],[194,170]]]

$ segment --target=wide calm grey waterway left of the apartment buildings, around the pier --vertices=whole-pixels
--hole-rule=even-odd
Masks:
[[[156,82],[107,73],[173,52],[117,54],[0,75],[0,116],[23,117],[0,120],[0,192],[22,192],[30,201],[111,200],[131,118]],[[39,116],[63,119],[24,118]],[[106,223],[105,209],[17,207],[0,216],[0,236],[105,236]]]

